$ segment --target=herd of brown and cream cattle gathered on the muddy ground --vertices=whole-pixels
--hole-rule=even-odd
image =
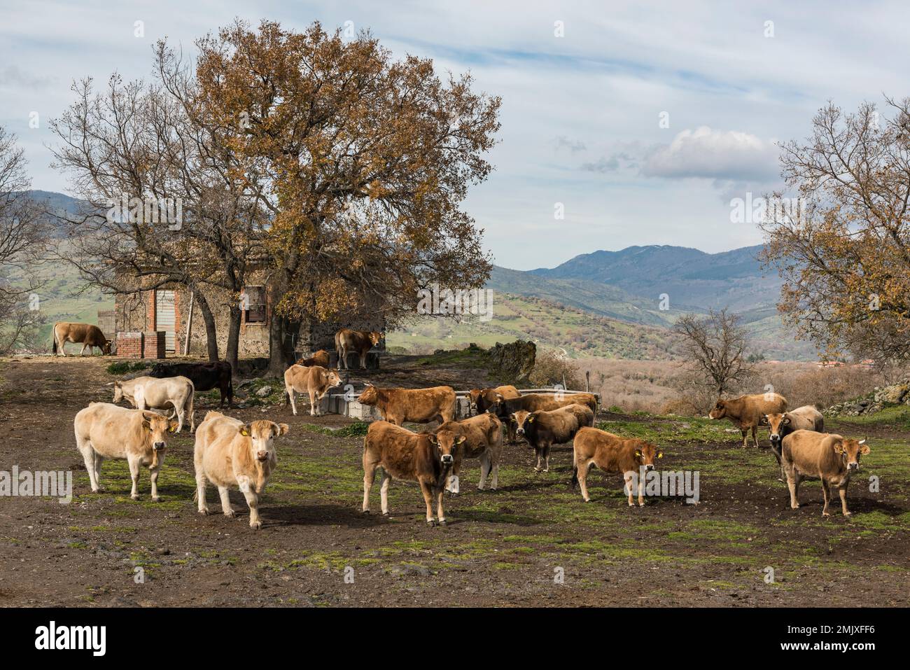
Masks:
[[[73,324],[66,324],[73,325]],[[56,333],[56,329],[55,329]],[[361,368],[366,352],[379,341],[380,333],[349,329],[339,331],[336,345],[339,364],[347,365],[349,352],[359,354]],[[62,348],[62,344],[61,344]],[[295,393],[308,392],[310,414],[319,413],[319,401],[341,383],[339,371],[329,370],[329,354],[316,352],[285,372],[285,403],[297,414]],[[148,376],[116,381],[113,403],[92,402],[76,414],[76,446],[86,462],[92,491],[99,492],[101,464],[106,458],[126,460],[132,478],[131,496],[138,498],[140,468],[151,474],[152,499],[157,501],[157,477],[165,458],[167,433],[179,432],[185,422],[196,431],[198,511],[208,513],[207,482],[217,486],[222,512],[235,516],[228,501],[230,487],[246,497],[253,528],[261,527],[258,496],[278,464],[274,440],[288,433],[288,424],[274,421],[244,423],[219,411],[209,411],[198,426],[193,416],[196,391],[221,391],[221,407],[231,407],[233,385],[230,365],[213,363],[158,363]],[[133,410],[116,403],[127,401]],[[369,492],[378,467],[382,468],[380,506],[389,514],[389,483],[392,479],[418,482],[427,508],[427,523],[445,524],[443,493],[459,492],[459,472],[466,459],[480,461],[481,490],[495,490],[499,479],[504,440],[526,442],[535,452],[535,472],[548,472],[554,444],[572,443],[571,485],[581,487],[587,503],[587,475],[596,466],[602,472],[622,474],[628,503],[634,505],[632,482],[639,478],[639,505],[644,504],[642,480],[655,468],[662,451],[651,442],[624,438],[594,428],[597,398],[591,393],[563,391],[557,394],[521,394],[506,385],[470,391],[471,414],[456,421],[457,396],[450,386],[430,389],[379,388],[369,382],[358,401],[373,406],[381,421],[369,424],[363,441],[363,506],[369,513]],[[167,413],[171,412],[170,416]],[[728,419],[742,431],[743,447],[748,433],[758,446],[759,426],[769,429],[772,451],[780,466],[781,481],[790,490],[790,503],[799,507],[799,485],[819,479],[824,494],[822,513],[835,488],[844,515],[846,488],[859,468],[860,456],[869,452],[865,440],[853,440],[824,432],[824,418],[812,406],[787,411],[786,399],[777,393],[744,395],[718,400],[712,419]],[[410,431],[403,423],[438,422],[426,431]],[[434,513],[435,506],[435,513]]]

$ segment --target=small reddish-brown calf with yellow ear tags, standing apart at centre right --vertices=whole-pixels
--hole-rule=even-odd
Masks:
[[[571,488],[581,484],[581,497],[590,503],[588,496],[588,471],[596,465],[603,472],[621,472],[622,479],[629,493],[629,506],[634,507],[632,500],[633,476],[638,477],[638,504],[644,506],[645,472],[654,469],[654,459],[663,458],[663,452],[651,442],[638,439],[625,439],[612,432],[597,428],[582,428],[575,433],[572,442]]]

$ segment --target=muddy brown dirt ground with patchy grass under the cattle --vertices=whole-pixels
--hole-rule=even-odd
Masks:
[[[468,462],[447,497],[446,527],[428,527],[416,484],[394,482],[391,516],[360,513],[362,426],[283,405],[230,411],[290,425],[260,503],[202,516],[192,501],[188,431],[168,444],[160,503],[129,498],[126,462],[105,462],[92,494],[73,437],[89,401],[109,401],[111,359],[0,360],[0,471],[72,471],[74,498],[0,498],[0,605],[907,605],[910,603],[910,421],[829,421],[867,432],[872,452],[851,482],[845,519],[821,514],[817,483],[791,510],[770,450],[743,449],[729,423],[605,414],[608,430],[656,440],[665,470],[700,472],[700,503],[650,498],[630,508],[622,479],[593,471],[591,503],[567,483],[571,445],[535,474],[526,446],[505,450],[497,491],[478,491]],[[468,388],[477,371],[391,361],[368,379]],[[351,374],[359,378],[359,371]],[[215,403],[197,399],[197,421]],[[302,405],[307,408],[307,402]],[[346,429],[347,430],[329,430]],[[766,436],[764,442],[766,443]],[[875,486],[870,485],[875,477]],[[209,506],[218,509],[210,488]],[[137,570],[141,568],[141,570]],[[773,579],[770,575],[773,573]],[[143,579],[139,579],[138,575]]]

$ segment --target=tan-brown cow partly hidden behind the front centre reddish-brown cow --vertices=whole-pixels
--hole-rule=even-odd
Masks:
[[[490,490],[495,491],[499,484],[500,458],[502,455],[502,422],[495,415],[484,412],[477,416],[461,421],[446,421],[433,431],[438,442],[445,442],[450,451],[453,451],[454,440],[459,437],[466,438],[459,449],[454,449],[455,461],[452,463],[452,472],[446,491],[459,492],[458,473],[461,461],[466,458],[480,459],[480,483],[477,488],[481,491],[487,487],[487,477],[491,475]]]

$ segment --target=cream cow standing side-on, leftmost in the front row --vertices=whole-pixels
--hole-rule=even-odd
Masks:
[[[165,461],[167,433],[177,429],[152,411],[127,410],[107,402],[92,402],[76,413],[73,421],[76,447],[82,453],[92,492],[103,491],[101,463],[106,458],[126,460],[133,488],[129,497],[139,499],[139,468],[147,467],[152,482],[152,501],[157,503],[158,471]]]

